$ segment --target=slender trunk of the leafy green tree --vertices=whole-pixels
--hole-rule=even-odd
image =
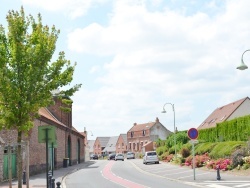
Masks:
[[[18,131],[18,135],[17,135],[17,179],[18,179],[18,188],[22,188],[22,174],[23,174],[21,140],[22,140],[22,132]]]

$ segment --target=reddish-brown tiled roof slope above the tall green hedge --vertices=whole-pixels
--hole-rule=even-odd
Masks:
[[[215,109],[208,117],[203,121],[197,129],[208,129],[215,127],[217,123],[226,121],[232,113],[245,101],[249,100],[248,97],[240,99],[238,101],[229,103],[225,106],[221,106]]]

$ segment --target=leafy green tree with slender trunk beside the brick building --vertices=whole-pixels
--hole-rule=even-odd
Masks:
[[[59,52],[52,61],[60,33],[20,12],[7,14],[8,32],[0,25],[0,129],[17,130],[17,143],[33,127],[38,110],[53,104],[52,91],[58,97],[72,96],[81,84],[70,86],[76,66]],[[67,86],[67,89],[65,89]],[[17,148],[18,188],[22,187],[21,145]]]

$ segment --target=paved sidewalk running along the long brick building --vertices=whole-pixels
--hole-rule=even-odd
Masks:
[[[69,166],[67,168],[60,168],[57,170],[54,170],[53,178],[55,178],[55,188],[56,183],[61,182],[61,187],[63,187],[63,178],[70,173],[73,173],[83,167],[89,166],[93,164],[92,161],[83,162],[77,165]],[[17,188],[17,180],[12,181],[12,188]],[[1,188],[9,188],[9,182],[0,182]],[[26,188],[27,185],[22,185],[23,188]],[[29,180],[29,188],[46,188],[46,173],[37,174],[34,176],[30,176]],[[65,186],[64,186],[65,187]]]

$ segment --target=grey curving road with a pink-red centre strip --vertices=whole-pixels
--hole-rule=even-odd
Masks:
[[[69,174],[65,184],[66,188],[250,188],[250,176],[221,173],[221,181],[217,181],[216,171],[195,169],[194,172],[191,168],[162,162],[144,165],[141,159],[97,160]]]

